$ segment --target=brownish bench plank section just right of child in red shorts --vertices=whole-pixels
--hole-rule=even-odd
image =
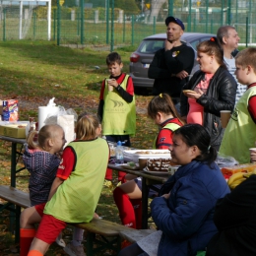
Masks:
[[[131,227],[115,224],[105,220],[93,219],[89,224],[74,224],[82,229],[88,230],[89,232],[97,233],[103,236],[116,236],[120,231],[134,230]]]

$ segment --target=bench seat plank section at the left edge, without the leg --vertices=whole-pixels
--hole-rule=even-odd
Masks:
[[[23,208],[31,207],[29,193],[14,187],[0,185],[0,198]]]

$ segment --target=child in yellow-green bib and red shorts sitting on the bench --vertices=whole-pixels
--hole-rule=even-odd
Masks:
[[[34,228],[41,219],[28,255],[45,254],[66,223],[92,221],[109,155],[105,140],[97,138],[100,129],[95,115],[86,114],[77,122],[77,139],[63,152],[47,204],[23,212],[23,228]]]

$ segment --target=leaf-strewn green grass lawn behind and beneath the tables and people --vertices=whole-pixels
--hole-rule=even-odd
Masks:
[[[129,56],[133,47],[118,49],[128,72]],[[37,118],[39,105],[46,105],[55,97],[58,105],[72,107],[79,114],[83,110],[96,113],[101,81],[108,77],[105,57],[109,52],[91,49],[71,49],[45,41],[0,42],[0,98],[17,98],[20,102],[20,120],[29,116]],[[99,67],[99,68],[98,68]],[[149,149],[158,128],[147,117],[147,105],[152,96],[136,96],[137,131],[131,138],[132,146]],[[0,142],[0,184],[10,184],[10,143]],[[18,163],[22,166],[22,162]],[[115,173],[113,171],[113,173]],[[17,187],[28,191],[29,173],[19,173]],[[117,183],[116,174],[113,183]],[[111,188],[103,188],[97,207],[103,219],[120,223],[112,199]],[[8,231],[8,213],[0,213],[0,255],[18,255],[17,245]],[[71,231],[64,231],[64,239],[72,238]],[[106,252],[111,255],[111,252]],[[64,255],[55,245],[46,255]]]

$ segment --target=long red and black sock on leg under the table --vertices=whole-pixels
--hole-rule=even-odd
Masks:
[[[115,204],[119,210],[119,216],[122,224],[136,228],[136,220],[133,206],[127,194],[119,187],[113,192]]]

